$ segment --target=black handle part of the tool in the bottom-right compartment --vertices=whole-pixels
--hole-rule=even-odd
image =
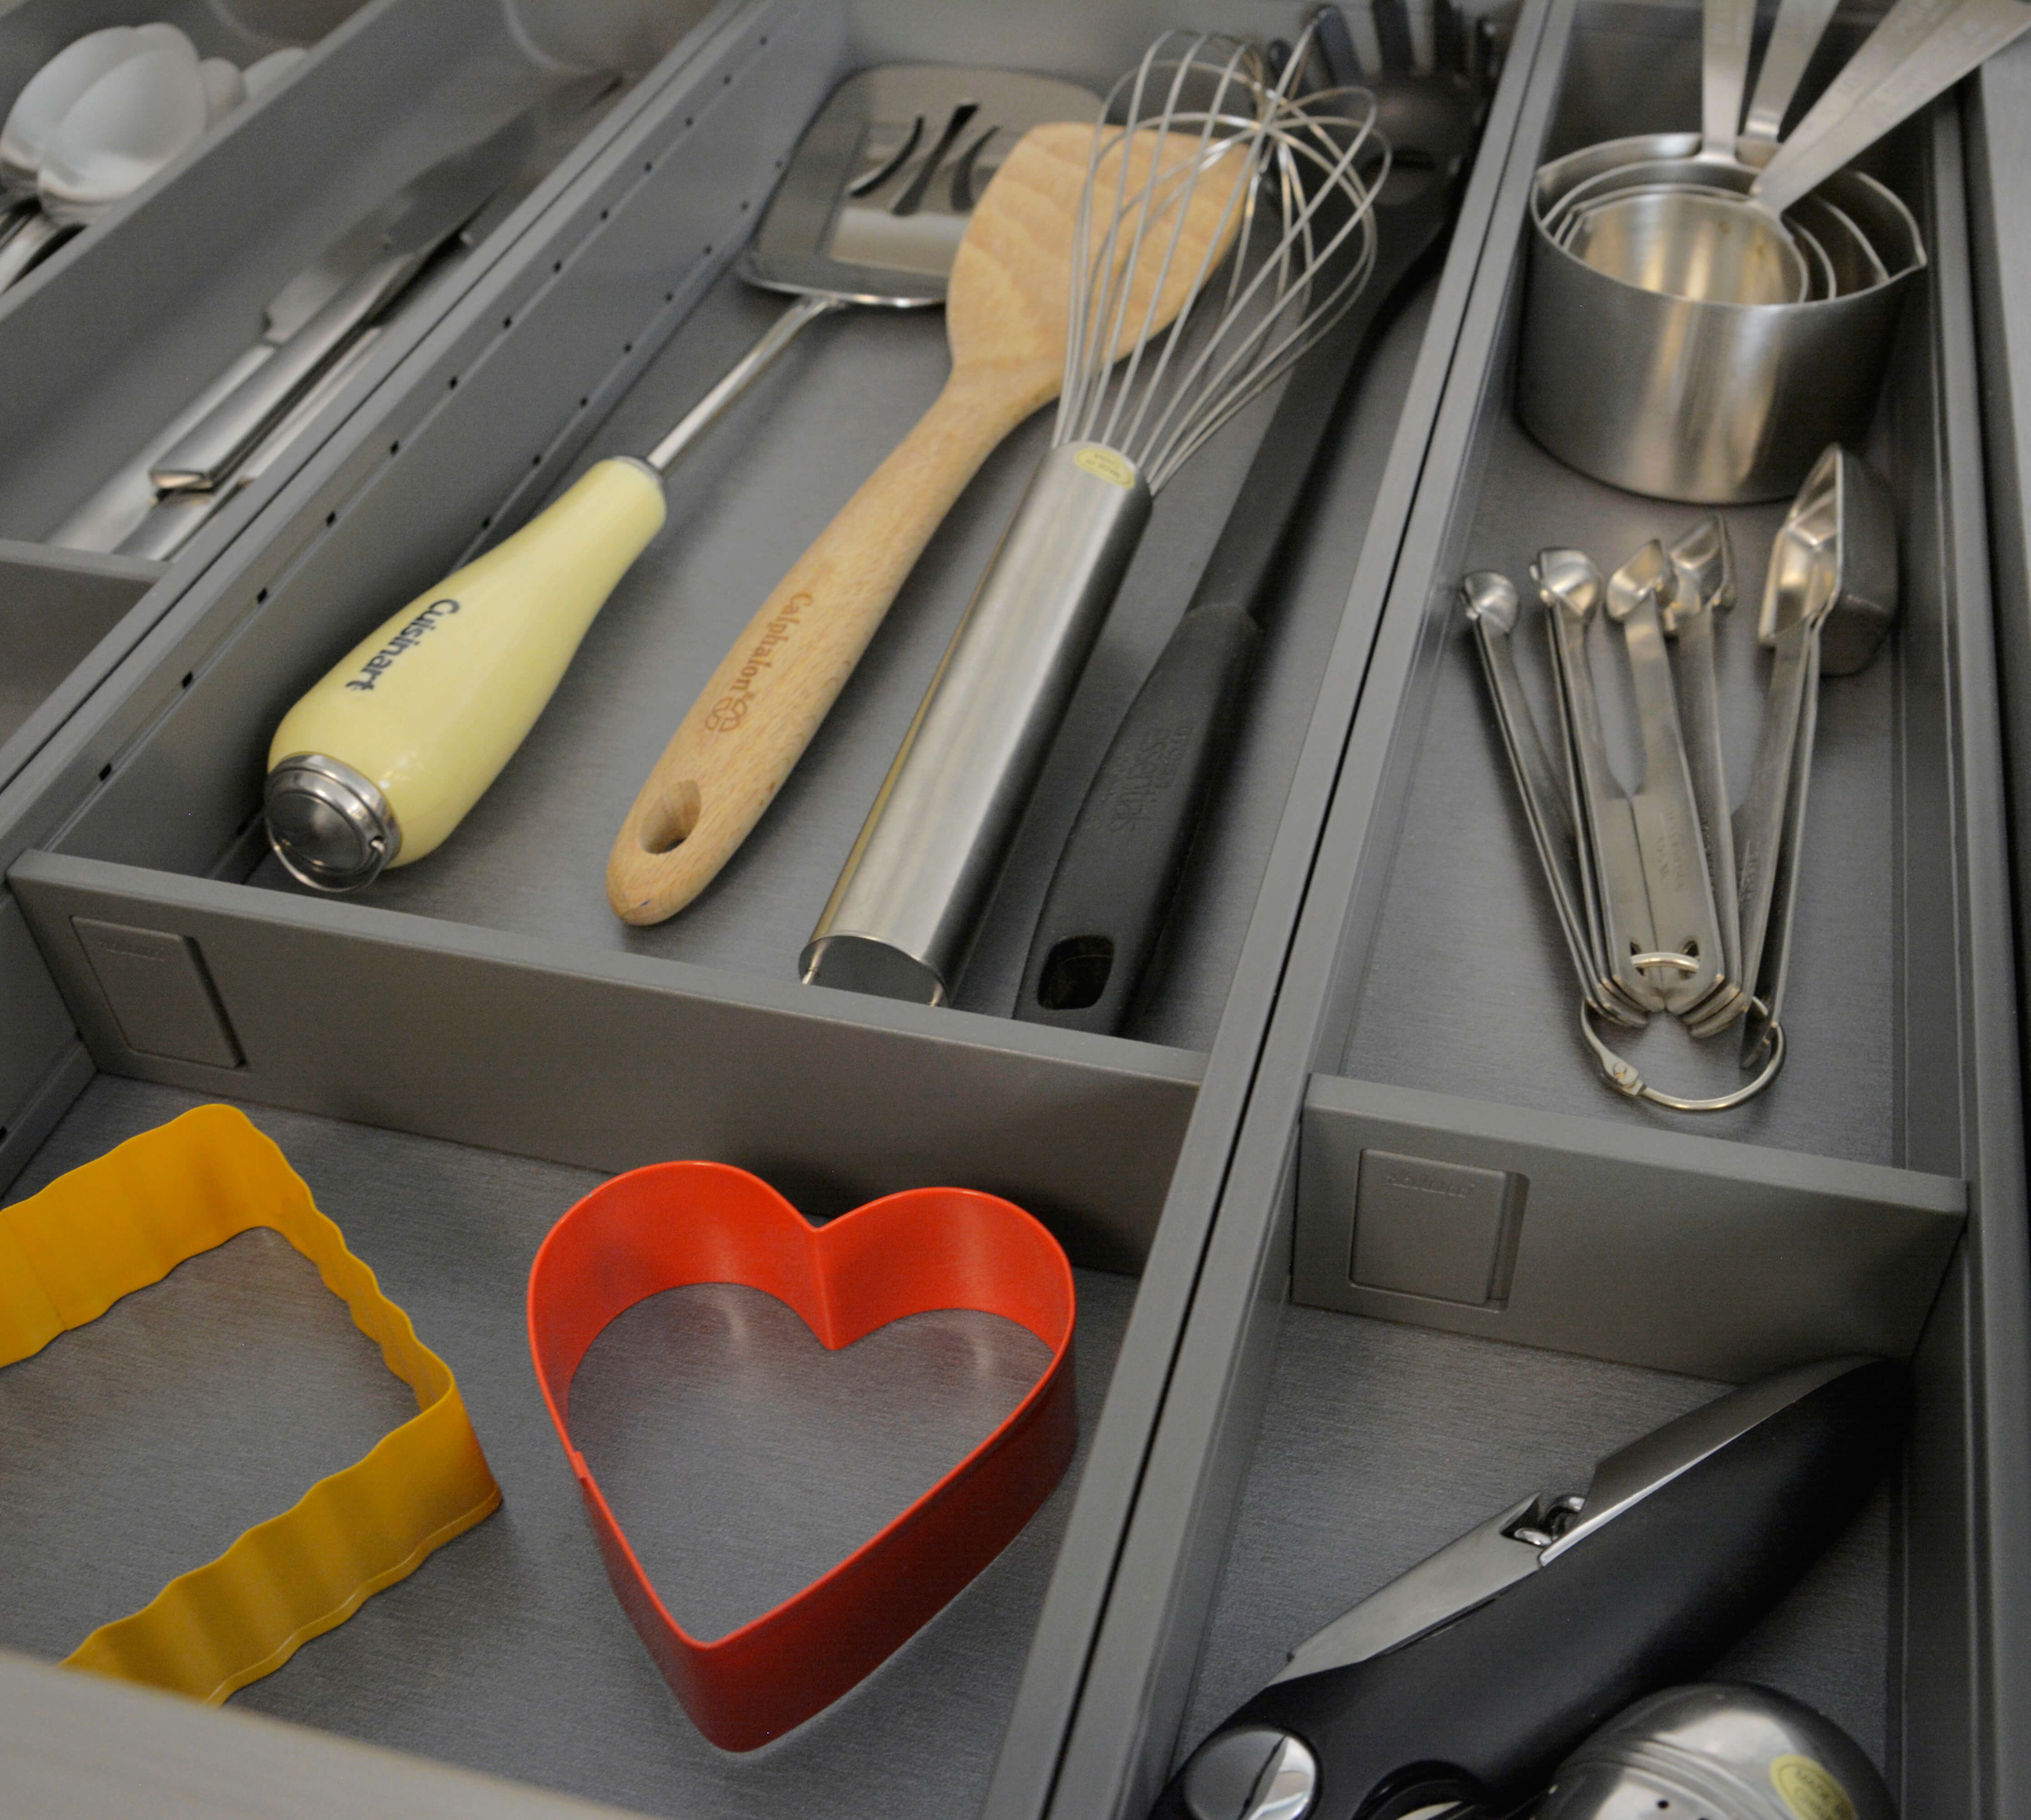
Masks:
[[[1371,1820],[1426,1798],[1523,1800],[1631,1700],[1696,1680],[1767,1613],[1897,1456],[1905,1371],[1871,1361],[1708,1454],[1444,1629],[1271,1682],[1194,1751],[1156,1820],[1227,1820],[1190,1802],[1192,1763],[1269,1727],[1318,1759],[1306,1820]]]

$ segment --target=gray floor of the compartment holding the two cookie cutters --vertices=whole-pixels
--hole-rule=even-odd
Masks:
[[[177,1089],[97,1081],[18,1192],[195,1103]],[[528,1263],[601,1178],[248,1111],[457,1373],[504,1507],[236,1694],[236,1708],[682,1820],[946,1816],[979,1804],[1131,1280],[1078,1274],[1080,1456],[1030,1528],[857,1690],[790,1737],[729,1755],[684,1718],[615,1603],[528,1363]],[[668,1306],[686,1296],[717,1300],[686,1320]],[[741,1308],[741,1298],[762,1306]],[[733,1353],[711,1345],[715,1316],[729,1314],[739,1316]],[[232,1322],[230,1341],[191,1332],[213,1320]],[[1030,1335],[985,1314],[916,1316],[863,1347],[861,1359],[814,1359],[796,1316],[739,1290],[654,1298],[595,1343],[573,1436],[680,1621],[715,1635],[786,1597],[786,1574],[823,1570],[894,1515],[898,1497],[985,1434],[1044,1363]],[[695,1377],[678,1369],[686,1361]],[[672,1393],[648,1402],[646,1381]],[[798,1416],[766,1408],[786,1381],[823,1398],[800,1412],[831,1428],[823,1452],[808,1428],[798,1436]],[[743,1393],[764,1404],[766,1426]],[[250,1233],[181,1265],[0,1371],[10,1436],[0,1647],[65,1653],[410,1414],[378,1351],[278,1237]],[[733,1434],[747,1436],[751,1456],[711,1475],[703,1442],[725,1446]],[[837,1487],[821,1460],[839,1471]],[[780,1534],[715,1528],[737,1528],[756,1507],[747,1519]]]

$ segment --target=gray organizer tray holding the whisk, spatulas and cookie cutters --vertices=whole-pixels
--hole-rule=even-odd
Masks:
[[[1239,483],[1241,422],[1160,502],[959,1010],[802,987],[794,965],[1048,416],[969,490],[715,890],[640,932],[603,902],[611,833],[691,693],[936,390],[934,315],[816,327],[674,471],[662,538],[439,855],[357,900],[319,900],[264,861],[256,810],[276,719],[339,652],[587,461],[654,441],[780,311],[729,260],[841,75],[946,59],[1105,85],[1172,22],[1160,4],[1070,0],[1009,16],[902,0],[719,6],[0,792],[0,1174],[41,1180],[193,1095],[250,1103],[362,1255],[390,1257],[469,1404],[496,1410],[477,1422],[508,1497],[494,1538],[508,1554],[471,1552],[449,1603],[400,1617],[382,1599],[345,1629],[364,1655],[307,1649],[240,1704],[684,1814],[948,1814],[985,1798],[997,1751],[1056,1751],[1076,1674],[1046,1674],[1020,1722],[1016,1682],[1032,1653],[1076,1662],[1107,1597],[1359,689],[1367,634],[1342,626],[1349,579],[1363,550],[1401,534],[1499,156],[1477,167],[1444,270],[1353,402],[1168,969],[1125,1036],[1003,1014],[1085,774]],[[1208,22],[1294,30],[1302,10],[1215,8]],[[1513,41],[1539,28],[1525,10]],[[1497,91],[1485,146],[1505,144],[1521,93],[1519,79]],[[942,1629],[760,1759],[713,1753],[670,1706],[593,1568],[554,1438],[528,1426],[528,1251],[587,1170],[672,1156],[754,1168],[818,1217],[920,1182],[1001,1192],[1080,1265],[1083,1467]],[[433,1184],[416,1202],[410,1178]],[[536,1542],[559,1560],[528,1558]],[[447,1649],[471,1674],[451,1706],[427,1692],[443,1688]],[[487,1651],[522,1680],[494,1674]],[[414,1710],[398,1692],[410,1674]],[[516,1800],[396,1765],[370,1771],[368,1804],[420,1800],[416,1775],[445,1800]]]

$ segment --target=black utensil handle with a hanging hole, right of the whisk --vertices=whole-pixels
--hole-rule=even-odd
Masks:
[[[1030,938],[1016,1016],[1119,1030],[1231,745],[1261,628],[1241,607],[1178,622],[1115,729]]]

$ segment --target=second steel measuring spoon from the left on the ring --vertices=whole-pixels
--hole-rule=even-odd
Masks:
[[[1617,989],[1631,1003],[1645,1012],[1661,1012],[1663,991],[1633,965],[1633,957],[1649,955],[1657,940],[1643,886],[1635,812],[1609,768],[1594,670],[1586,656],[1586,626],[1602,599],[1600,571],[1584,550],[1542,550],[1531,565],[1531,581],[1537,583],[1537,595],[1552,620],[1558,695],[1572,750],[1580,825],[1586,829],[1582,871],[1588,869],[1584,853],[1592,853],[1600,955],[1613,969]]]

